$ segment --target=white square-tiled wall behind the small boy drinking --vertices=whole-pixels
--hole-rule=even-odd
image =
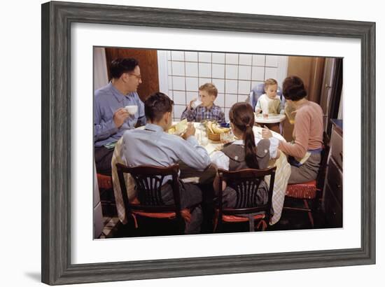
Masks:
[[[228,120],[232,104],[244,102],[253,87],[279,75],[279,57],[167,51],[169,97],[175,102],[174,120],[180,119],[186,104],[199,96],[198,88],[205,83],[216,85],[215,103],[225,111]]]

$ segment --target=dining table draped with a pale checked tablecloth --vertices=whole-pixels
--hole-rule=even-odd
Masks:
[[[175,123],[173,123],[174,125]],[[221,151],[223,148],[223,143],[221,141],[213,141],[207,138],[207,132],[205,131],[202,123],[194,123],[195,126],[195,137],[197,138],[198,143],[203,146],[209,156],[213,155],[215,151]],[[137,127],[138,129],[143,129],[144,127]],[[255,136],[255,144],[262,139],[262,128],[254,126],[253,132]],[[272,136],[280,141],[285,141],[281,134],[272,131]],[[120,184],[118,180],[118,172],[116,170],[116,164],[123,162],[123,137],[119,139],[116,143],[115,150],[113,152],[113,158],[111,162],[111,175],[113,181],[113,190],[116,200],[116,209],[118,211],[118,218],[122,223],[127,223],[127,218],[125,216],[125,205],[123,203],[123,196],[120,191]],[[270,219],[270,225],[274,225],[281,218],[283,201],[285,198],[286,188],[288,184],[288,178],[290,176],[290,165],[286,159],[286,155],[279,153],[279,157],[269,161],[269,167],[276,166],[276,176],[274,180],[274,190],[272,196],[272,208],[274,215]],[[183,162],[179,162],[179,169],[181,171],[179,178],[185,183],[209,183],[214,180],[216,176],[216,167],[210,165],[204,172],[198,172],[190,167],[188,167]],[[269,184],[269,176],[265,177],[265,181]],[[130,174],[125,174],[125,182],[127,187],[127,195],[129,200],[134,200],[136,197],[135,182]]]

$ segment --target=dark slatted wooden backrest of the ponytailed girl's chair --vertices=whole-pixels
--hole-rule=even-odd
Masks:
[[[270,211],[272,208],[272,195],[274,190],[276,167],[269,169],[240,169],[235,172],[228,172],[224,169],[218,169],[220,189],[218,195],[219,216],[222,214],[235,215],[235,214],[251,214],[256,212],[265,211],[267,222],[270,219]],[[258,192],[258,188],[262,181],[265,180],[265,176],[270,176],[270,183],[268,189],[268,200],[266,204],[257,205],[253,200]],[[237,193],[236,207],[235,208],[223,208],[223,190],[222,182],[226,181],[228,186],[233,188]]]

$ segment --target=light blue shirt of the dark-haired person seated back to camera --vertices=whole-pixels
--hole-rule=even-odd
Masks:
[[[123,162],[129,167],[169,167],[179,161],[197,171],[204,171],[211,163],[206,149],[194,136],[185,140],[149,123],[144,130],[128,130],[123,134]],[[171,176],[165,177],[164,182],[168,179]]]

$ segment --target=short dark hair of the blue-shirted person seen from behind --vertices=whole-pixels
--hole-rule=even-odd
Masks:
[[[165,113],[172,112],[172,105],[174,102],[167,94],[155,92],[144,102],[144,114],[147,120],[158,122]]]

